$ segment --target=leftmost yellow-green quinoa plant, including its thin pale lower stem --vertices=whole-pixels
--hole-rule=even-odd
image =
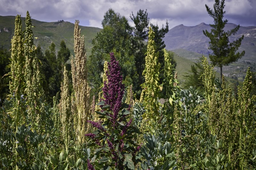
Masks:
[[[20,15],[17,15],[15,18],[15,30],[14,36],[12,38],[12,54],[11,54],[11,72],[10,74],[10,95],[9,98],[12,101],[12,109],[10,110],[10,116],[16,127],[16,132],[18,132],[18,127],[21,124],[25,123],[26,115],[25,112],[25,100],[24,100],[24,64],[25,64],[25,56],[24,56],[24,46],[23,46],[23,33],[22,33],[22,25]],[[16,142],[16,148],[18,148],[18,142]],[[16,162],[18,162],[18,152],[16,153]],[[18,166],[16,165],[16,170],[18,170]]]

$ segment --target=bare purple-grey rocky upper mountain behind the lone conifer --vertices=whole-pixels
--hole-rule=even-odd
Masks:
[[[227,23],[224,30],[228,31],[236,26],[236,24]],[[203,34],[203,30],[211,31],[210,25],[201,23],[196,26],[178,25],[173,27],[164,37],[166,49],[185,49],[208,55],[210,53],[208,50],[210,39]],[[242,35],[244,35],[244,39],[238,50],[245,50],[242,60],[256,61],[256,26],[240,26],[238,32],[230,37],[230,41]]]

